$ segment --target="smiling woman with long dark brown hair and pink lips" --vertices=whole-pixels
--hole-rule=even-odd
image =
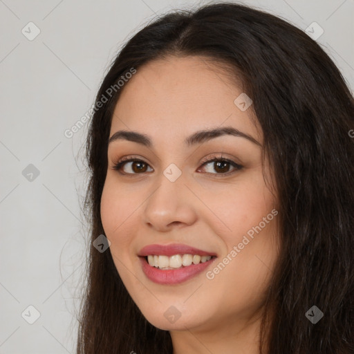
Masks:
[[[134,35],[88,134],[77,353],[354,353],[353,117],[324,50],[265,12]]]

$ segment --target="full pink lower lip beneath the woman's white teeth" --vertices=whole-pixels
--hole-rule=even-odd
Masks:
[[[158,284],[178,284],[196,277],[199,273],[203,272],[216,258],[212,258],[209,261],[199,264],[188,265],[187,267],[170,269],[170,270],[160,270],[158,268],[152,267],[147,263],[145,257],[139,257],[142,263],[142,270],[148,279]]]

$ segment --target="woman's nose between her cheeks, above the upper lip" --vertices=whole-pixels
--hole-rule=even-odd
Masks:
[[[151,229],[168,232],[196,222],[196,197],[180,176],[171,182],[164,174],[156,180],[145,203],[144,221]]]

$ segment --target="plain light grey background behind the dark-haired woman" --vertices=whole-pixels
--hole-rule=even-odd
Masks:
[[[239,2],[303,30],[316,21],[324,29],[317,42],[353,89],[353,0]],[[133,33],[156,14],[198,3],[206,1],[0,0],[1,354],[75,352],[78,284],[90,246],[80,210],[86,127],[73,138],[64,131],[91,107]],[[32,41],[21,32],[34,33],[30,21],[41,31]],[[39,170],[32,181],[22,173],[30,164]],[[40,313],[34,324],[25,320],[35,319],[30,305]]]

